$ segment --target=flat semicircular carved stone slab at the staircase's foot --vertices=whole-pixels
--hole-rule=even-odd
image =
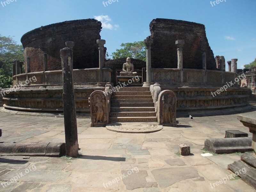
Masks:
[[[157,123],[112,123],[107,124],[106,128],[122,133],[151,133],[160,131],[163,126]]]

